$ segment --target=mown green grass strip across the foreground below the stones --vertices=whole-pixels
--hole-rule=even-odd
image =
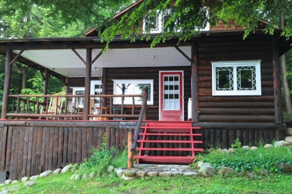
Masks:
[[[211,178],[141,178],[124,181],[110,174],[93,180],[70,180],[73,173],[39,178],[31,188],[18,185],[13,194],[291,194],[292,175]],[[112,176],[112,177],[111,177]],[[10,186],[14,187],[14,186]]]

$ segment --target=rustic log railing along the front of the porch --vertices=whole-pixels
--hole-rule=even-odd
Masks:
[[[90,120],[110,120],[113,118],[137,118],[143,105],[135,104],[137,98],[146,95],[90,95]],[[8,118],[28,119],[83,119],[84,95],[9,95]],[[125,105],[125,98],[131,98],[131,105]],[[120,104],[114,99],[120,98]],[[47,99],[46,101],[43,101]],[[119,113],[113,112],[119,109]],[[126,111],[127,108],[127,111]],[[146,108],[146,107],[145,107]],[[138,109],[138,110],[137,110]]]

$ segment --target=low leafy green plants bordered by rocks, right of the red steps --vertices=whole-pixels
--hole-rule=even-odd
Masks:
[[[197,160],[210,162],[215,168],[221,166],[234,168],[237,172],[267,169],[271,173],[280,172],[279,163],[292,164],[292,150],[288,147],[273,147],[266,149],[259,147],[256,150],[236,149],[235,152],[227,154],[225,152],[213,151],[206,155],[200,155]]]

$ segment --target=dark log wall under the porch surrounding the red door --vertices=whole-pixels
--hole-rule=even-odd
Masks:
[[[187,64],[188,65],[188,64]],[[112,80],[154,80],[153,81],[153,105],[147,106],[147,120],[159,119],[159,71],[183,70],[183,95],[184,95],[184,120],[187,120],[187,101],[191,97],[191,67],[139,67],[139,68],[108,68],[108,94],[113,94]],[[108,99],[107,105],[110,102]],[[127,105],[125,105],[127,106]],[[136,105],[137,107],[139,105]],[[131,113],[131,107],[127,114]],[[135,109],[134,114],[139,114],[140,109]]]

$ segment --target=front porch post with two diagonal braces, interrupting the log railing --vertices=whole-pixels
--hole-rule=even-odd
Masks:
[[[83,120],[89,120],[89,112],[90,112],[90,82],[91,82],[91,55],[92,49],[86,49],[86,70],[85,70],[85,97],[84,97],[84,104],[83,104]]]

